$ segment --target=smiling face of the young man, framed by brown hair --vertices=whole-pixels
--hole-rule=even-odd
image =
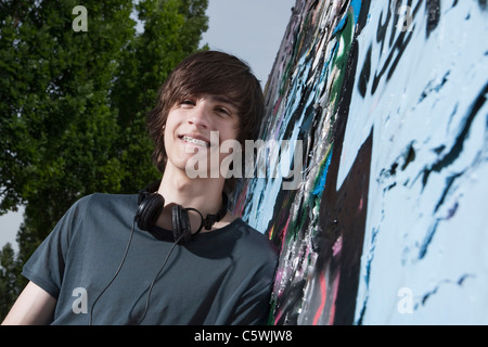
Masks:
[[[219,170],[229,155],[220,153],[220,144],[237,136],[237,110],[230,100],[216,95],[183,98],[170,110],[166,121],[166,165],[187,170],[190,159],[205,160],[204,177],[214,177],[210,170]],[[218,163],[211,158],[218,158]]]

